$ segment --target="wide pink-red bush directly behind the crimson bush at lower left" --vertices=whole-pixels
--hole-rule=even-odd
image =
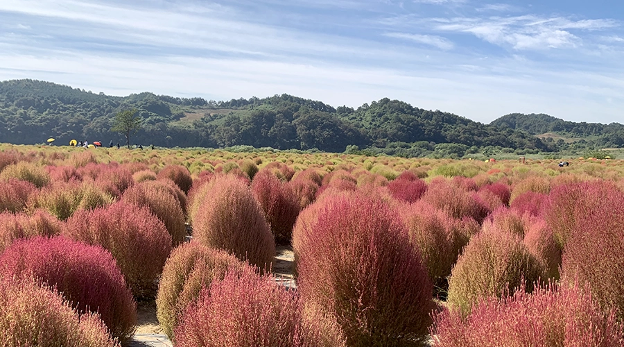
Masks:
[[[153,298],[171,252],[171,236],[147,208],[120,201],[107,208],[79,210],[62,235],[98,244],[112,253],[135,297]]]

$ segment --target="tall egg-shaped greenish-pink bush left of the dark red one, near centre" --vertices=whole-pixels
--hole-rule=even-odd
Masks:
[[[193,217],[193,242],[221,248],[260,269],[268,269],[275,241],[262,209],[239,178],[221,176],[198,203]]]

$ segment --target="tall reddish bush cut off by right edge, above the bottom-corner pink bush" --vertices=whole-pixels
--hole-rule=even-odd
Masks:
[[[600,306],[615,308],[624,322],[624,192],[600,181],[572,187],[580,189],[580,199],[564,204],[575,219],[568,221],[562,281],[589,285]]]

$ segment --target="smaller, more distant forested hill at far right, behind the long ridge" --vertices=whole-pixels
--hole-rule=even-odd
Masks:
[[[624,125],[619,123],[575,123],[549,115],[513,113],[490,123],[499,128],[523,130],[532,135],[555,133],[566,137],[593,137],[600,146],[624,146]]]

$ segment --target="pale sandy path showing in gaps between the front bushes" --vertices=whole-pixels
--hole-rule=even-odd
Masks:
[[[277,255],[273,260],[275,282],[284,287],[295,289],[297,284],[293,276],[295,253],[290,246],[277,246]],[[156,301],[143,301],[137,305],[139,328],[128,347],[172,347],[171,341],[162,332],[156,318]]]

